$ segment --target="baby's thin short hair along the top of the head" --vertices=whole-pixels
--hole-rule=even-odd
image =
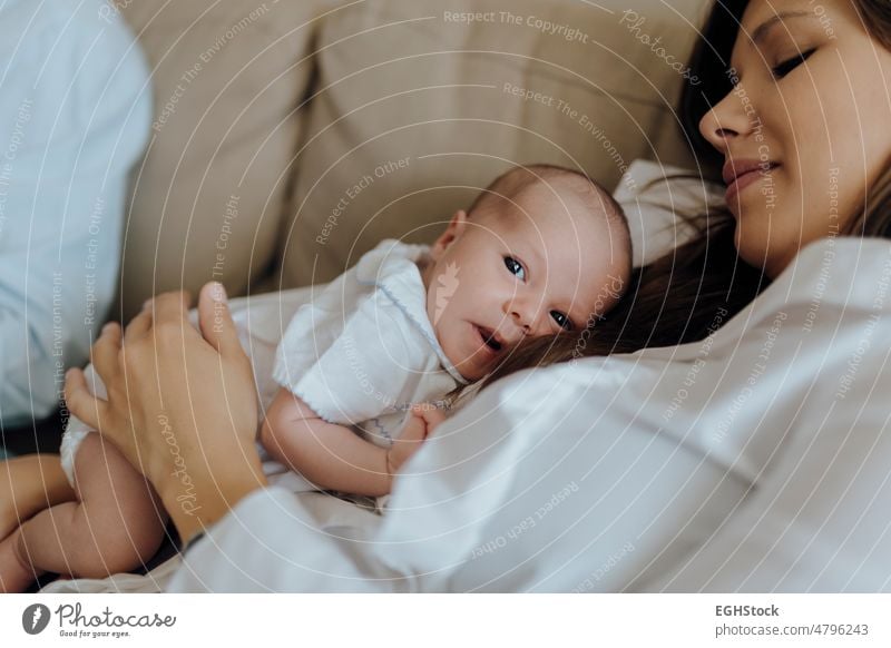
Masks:
[[[535,164],[509,169],[479,193],[468,209],[468,217],[473,218],[481,212],[512,203],[521,190],[537,183],[555,185],[566,183],[566,186],[586,205],[593,209],[599,208],[613,232],[618,234],[617,243],[629,251],[628,258],[630,259],[631,233],[628,229],[628,219],[621,205],[587,174],[567,167]]]

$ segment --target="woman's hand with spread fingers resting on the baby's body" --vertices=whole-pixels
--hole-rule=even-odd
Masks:
[[[107,324],[92,348],[108,401],[80,370],[66,376],[66,401],[117,445],[158,491],[183,541],[265,485],[254,446],[257,402],[251,362],[219,284],[202,288],[200,332],[188,295],[146,303],[121,337]]]

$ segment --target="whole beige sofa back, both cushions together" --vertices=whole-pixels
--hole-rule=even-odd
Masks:
[[[609,188],[636,158],[691,167],[674,109],[705,4],[118,0],[156,107],[123,316],[164,289],[327,282],[382,238],[431,242],[515,164]]]

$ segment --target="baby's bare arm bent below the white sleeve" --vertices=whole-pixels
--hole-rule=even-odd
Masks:
[[[323,489],[362,495],[390,492],[393,473],[427,438],[423,418],[412,415],[390,450],[320,418],[282,387],[266,411],[260,440],[266,451]]]

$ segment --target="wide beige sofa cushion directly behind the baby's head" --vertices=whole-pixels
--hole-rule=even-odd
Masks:
[[[704,3],[422,0],[329,16],[275,284],[330,281],[385,237],[432,240],[513,163],[609,188],[635,158],[689,166],[669,63],[687,60]]]

